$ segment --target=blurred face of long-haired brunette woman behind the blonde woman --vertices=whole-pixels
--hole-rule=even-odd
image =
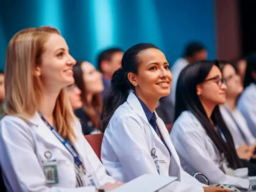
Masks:
[[[89,62],[83,62],[81,69],[83,71],[83,80],[87,93],[101,93],[104,90],[102,74],[96,71],[94,66]]]

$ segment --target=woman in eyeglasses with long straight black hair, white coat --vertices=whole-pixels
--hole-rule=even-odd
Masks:
[[[200,61],[188,65],[179,76],[176,91],[176,122],[171,140],[183,169],[202,172],[210,184],[226,183],[247,189],[248,162],[240,160],[233,138],[224,123],[219,104],[226,102],[226,82],[218,64]],[[252,175],[254,168],[249,168]]]

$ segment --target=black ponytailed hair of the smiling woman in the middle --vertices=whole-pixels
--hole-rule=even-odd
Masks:
[[[122,68],[115,71],[111,80],[111,88],[108,90],[104,98],[104,104],[101,114],[103,130],[107,127],[110,118],[119,105],[123,104],[129,94],[130,90],[134,90],[127,75],[128,73],[138,74],[138,66],[140,65],[140,58],[138,54],[149,48],[158,49],[154,44],[139,43],[124,52],[122,59]]]

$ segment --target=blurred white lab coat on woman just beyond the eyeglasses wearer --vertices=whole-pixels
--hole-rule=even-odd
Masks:
[[[229,131],[233,137],[235,148],[239,148],[239,146],[241,146],[242,144],[256,143],[256,139],[252,135],[249,127],[247,126],[246,119],[244,119],[243,115],[236,108],[231,112],[230,108],[227,105],[225,107],[220,106],[219,110],[221,111],[222,118],[224,119],[227,128],[229,128]],[[244,137],[246,137],[246,141],[248,143],[246,143],[246,141],[244,140],[242,134],[240,133],[240,130],[236,126],[233,118],[230,116],[230,113],[227,110],[229,110],[229,112],[232,114],[241,131],[244,133]]]

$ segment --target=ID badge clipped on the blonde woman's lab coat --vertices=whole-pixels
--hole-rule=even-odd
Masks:
[[[46,178],[47,185],[54,185],[59,183],[57,162],[43,162],[43,172]]]

